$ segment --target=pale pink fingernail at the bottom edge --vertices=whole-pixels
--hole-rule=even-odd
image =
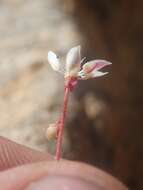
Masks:
[[[46,176],[32,182],[25,190],[95,190],[95,185],[87,181],[67,176]],[[98,188],[97,188],[98,190]]]

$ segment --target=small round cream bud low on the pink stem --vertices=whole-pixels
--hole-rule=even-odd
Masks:
[[[46,130],[46,137],[50,141],[56,139],[56,136],[57,136],[57,126],[55,123],[50,124]]]

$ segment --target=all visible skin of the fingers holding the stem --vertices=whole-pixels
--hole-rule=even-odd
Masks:
[[[87,164],[55,161],[0,138],[0,187],[4,190],[127,190],[118,180]]]

